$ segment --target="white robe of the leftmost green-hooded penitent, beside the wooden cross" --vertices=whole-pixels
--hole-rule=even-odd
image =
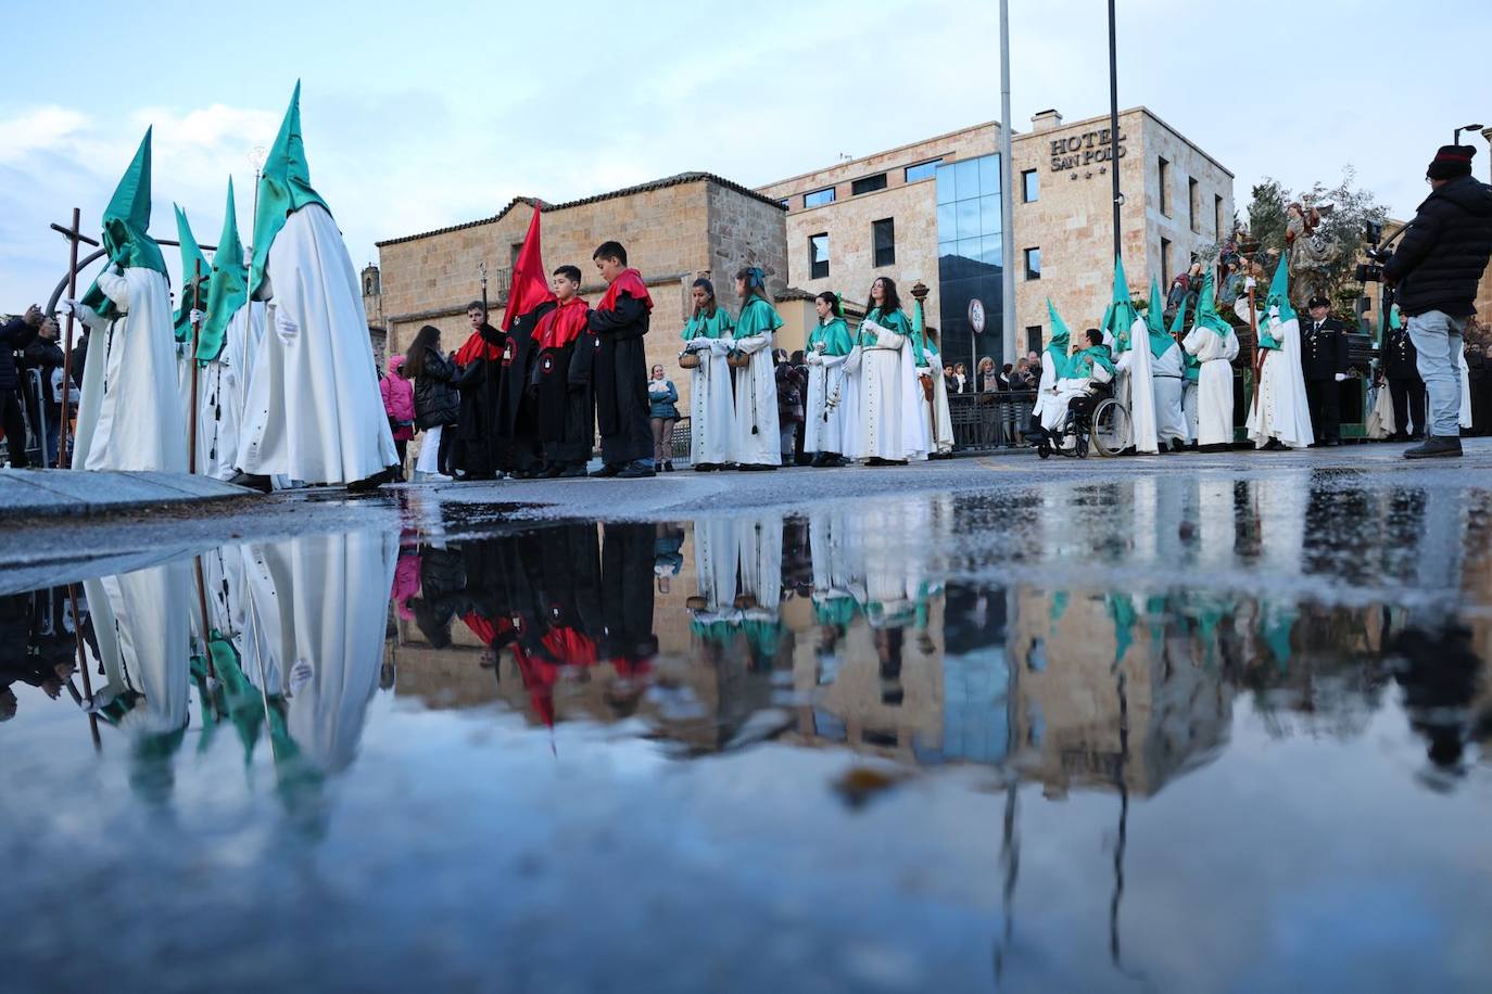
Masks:
[[[176,374],[170,294],[155,270],[104,270],[98,288],[121,317],[82,319],[91,329],[73,469],[186,472],[186,428]]]

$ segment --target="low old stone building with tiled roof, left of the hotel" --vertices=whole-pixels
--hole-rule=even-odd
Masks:
[[[377,243],[379,265],[364,271],[364,307],[370,325],[385,329],[388,349],[404,350],[422,325],[442,331],[454,349],[470,334],[466,307],[482,297],[486,267],[492,323],[507,303],[513,261],[528,231],[534,206],[519,197],[491,218],[401,235]],[[648,361],[662,362],[688,410],[688,377],[679,376],[679,332],[688,319],[689,285],[700,274],[715,280],[721,301],[734,311],[736,271],[759,265],[768,291],[786,288],[788,259],[783,210],[776,200],[710,173],[667,179],[543,207],[543,258],[554,270],[580,267],[580,292],[595,303],[606,291],[591,253],[607,240],[627,246],[628,262],[642,271],[653,298]]]

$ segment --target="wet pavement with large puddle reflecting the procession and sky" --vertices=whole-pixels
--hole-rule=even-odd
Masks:
[[[964,462],[9,571],[7,978],[1485,990],[1480,462]]]

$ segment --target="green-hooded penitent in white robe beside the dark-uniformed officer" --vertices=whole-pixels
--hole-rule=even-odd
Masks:
[[[1249,408],[1249,441],[1255,449],[1268,444],[1306,449],[1314,441],[1310,407],[1306,404],[1306,374],[1301,370],[1301,328],[1289,297],[1289,262],[1280,259],[1258,316],[1259,347],[1265,349],[1259,384]],[[1253,277],[1249,277],[1250,280]],[[1235,304],[1238,316],[1249,320],[1249,298]]]

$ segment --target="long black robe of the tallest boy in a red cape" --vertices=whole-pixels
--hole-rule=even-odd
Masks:
[[[652,425],[648,422],[652,405],[643,350],[648,306],[622,294],[615,310],[591,311],[591,331],[600,341],[592,384],[601,460],[612,466],[652,459]]]

